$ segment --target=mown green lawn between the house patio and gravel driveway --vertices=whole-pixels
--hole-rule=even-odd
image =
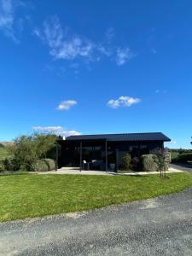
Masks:
[[[76,212],[170,194],[192,185],[189,173],[133,176],[0,176],[0,221]]]

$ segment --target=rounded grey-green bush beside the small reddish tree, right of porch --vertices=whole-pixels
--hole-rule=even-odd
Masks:
[[[143,172],[157,172],[158,165],[156,163],[157,157],[155,154],[143,154],[141,157]]]

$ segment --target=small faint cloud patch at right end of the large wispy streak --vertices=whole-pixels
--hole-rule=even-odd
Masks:
[[[117,49],[116,62],[118,66],[124,65],[127,61],[130,61],[133,57],[135,57],[135,54],[128,47]]]

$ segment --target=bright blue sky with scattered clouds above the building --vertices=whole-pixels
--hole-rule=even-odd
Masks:
[[[0,141],[192,136],[191,1],[0,0]]]

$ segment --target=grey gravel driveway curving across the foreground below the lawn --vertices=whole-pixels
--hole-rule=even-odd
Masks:
[[[192,255],[192,188],[90,212],[0,224],[0,255]]]

